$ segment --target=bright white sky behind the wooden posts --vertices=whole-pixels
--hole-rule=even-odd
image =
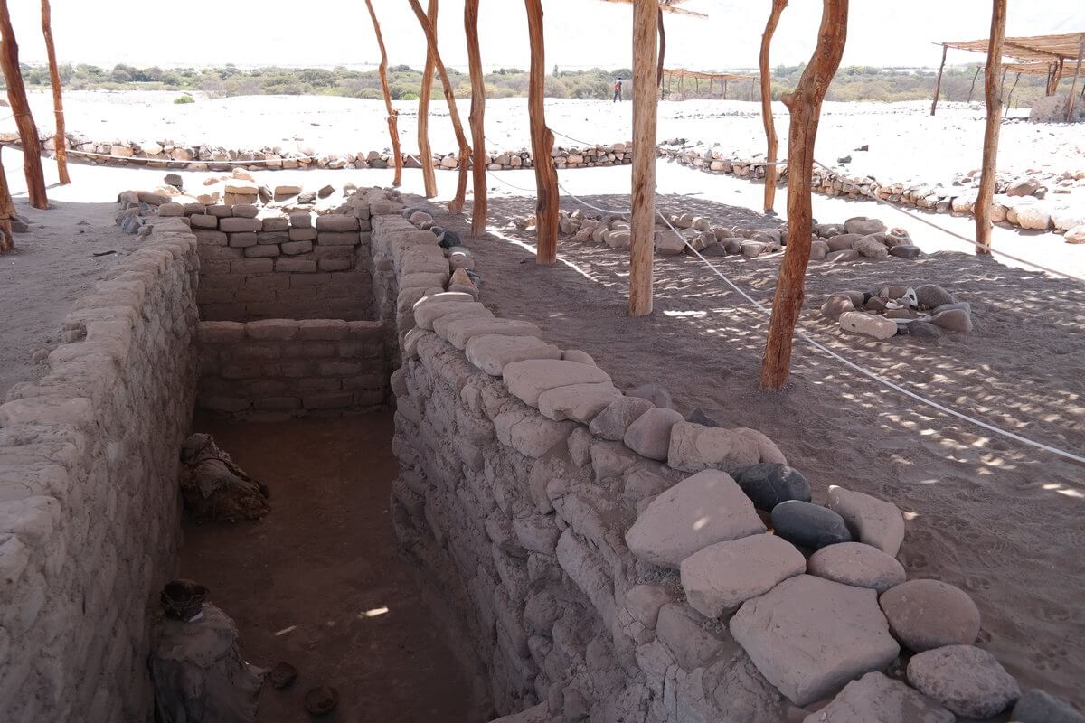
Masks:
[[[38,2],[9,3],[20,59],[44,62]],[[167,3],[168,4],[168,3]],[[1009,0],[1007,35],[1085,31],[1083,0]],[[363,0],[187,0],[183,8],[152,7],[146,0],[52,0],[53,35],[60,61],[112,66],[372,65],[379,60]],[[422,0],[422,7],[426,2]],[[629,5],[598,0],[542,0],[547,72],[554,65],[631,65]],[[757,64],[769,0],[690,0],[686,7],[707,21],[666,16],[668,67],[723,70]],[[843,65],[936,66],[941,40],[987,36],[990,0],[852,0]],[[388,62],[421,66],[425,41],[407,0],[374,0]],[[773,43],[771,62],[808,61],[821,2],[791,0]],[[442,0],[442,56],[465,68],[463,0]],[[481,0],[483,62],[526,68],[527,24],[520,0]],[[982,61],[949,51],[949,64]]]

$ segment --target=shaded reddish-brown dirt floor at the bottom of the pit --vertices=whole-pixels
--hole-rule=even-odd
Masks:
[[[265,685],[259,723],[309,720],[303,699],[317,685],[340,693],[322,721],[488,720],[480,683],[397,552],[391,413],[259,424],[197,415],[193,428],[271,490],[266,518],[187,522],[181,551],[181,576],[233,618],[245,659],[298,670],[283,690]]]

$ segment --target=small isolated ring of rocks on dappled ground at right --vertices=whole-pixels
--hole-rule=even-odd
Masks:
[[[937,338],[943,330],[972,331],[972,307],[937,284],[893,284],[869,292],[839,292],[821,305],[821,314],[841,328],[876,339],[897,334]]]

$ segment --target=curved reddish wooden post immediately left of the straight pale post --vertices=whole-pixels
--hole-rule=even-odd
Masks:
[[[527,35],[532,47],[527,111],[535,166],[535,262],[553,263],[558,258],[558,171],[553,167],[553,133],[546,126],[542,82],[546,78],[546,47],[542,38],[542,2],[524,0]],[[649,83],[650,86],[650,83]],[[634,88],[634,92],[637,89]],[[634,154],[634,158],[637,155]]]

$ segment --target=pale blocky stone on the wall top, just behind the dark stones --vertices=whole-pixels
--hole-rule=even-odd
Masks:
[[[671,428],[667,464],[682,472],[737,472],[761,462],[787,464],[771,439],[756,429],[723,429],[679,422]]]

